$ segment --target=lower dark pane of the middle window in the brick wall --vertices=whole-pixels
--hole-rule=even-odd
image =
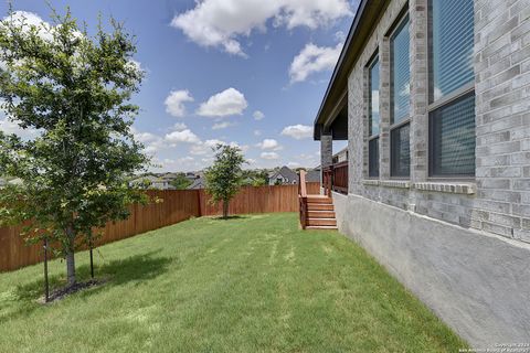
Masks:
[[[411,126],[398,127],[391,132],[391,174],[392,176],[411,175]]]

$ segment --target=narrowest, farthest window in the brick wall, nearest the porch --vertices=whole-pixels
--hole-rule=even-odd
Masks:
[[[379,57],[371,62],[369,69],[369,113],[368,113],[368,175],[379,176]]]

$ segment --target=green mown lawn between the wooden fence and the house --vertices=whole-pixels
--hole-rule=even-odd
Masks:
[[[42,265],[0,275],[0,352],[457,352],[367,253],[296,214],[195,218],[96,253],[104,286],[49,306]],[[82,278],[88,256],[77,255]],[[64,263],[51,264],[53,284]]]

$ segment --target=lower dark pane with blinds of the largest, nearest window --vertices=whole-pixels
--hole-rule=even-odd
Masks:
[[[431,175],[475,174],[475,95],[431,113]]]

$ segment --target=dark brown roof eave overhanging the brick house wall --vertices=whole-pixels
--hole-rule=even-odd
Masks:
[[[333,115],[337,114],[338,106],[344,100],[344,92],[347,92],[348,87],[348,73],[362,53],[367,39],[372,33],[373,26],[379,22],[381,13],[384,12],[389,3],[390,0],[361,0],[315,118],[314,138],[316,140],[320,139],[322,125],[335,118]]]

